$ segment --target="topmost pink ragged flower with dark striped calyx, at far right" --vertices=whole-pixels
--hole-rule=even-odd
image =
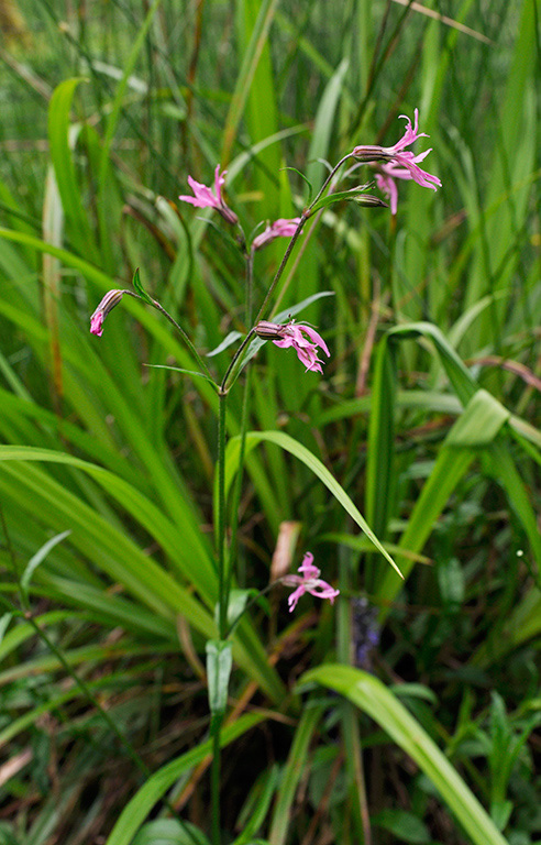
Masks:
[[[433,176],[419,167],[419,162],[427,157],[432,147],[418,155],[415,155],[411,150],[406,150],[418,138],[428,138],[426,132],[419,132],[419,109],[415,110],[413,125],[406,114],[400,114],[400,117],[407,120],[407,124],[402,138],[396,144],[393,146],[356,146],[352,153],[361,162],[378,163],[379,172],[376,174],[376,183],[389,197],[393,215],[396,215],[398,205],[398,189],[395,179],[413,179],[423,188],[432,188],[432,190],[441,188],[441,180],[438,176]]]

